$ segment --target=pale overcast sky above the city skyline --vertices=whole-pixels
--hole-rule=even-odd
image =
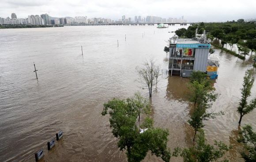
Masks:
[[[87,16],[112,20],[148,15],[181,18],[187,22],[226,22],[256,18],[256,0],[0,0],[0,17],[27,18]]]

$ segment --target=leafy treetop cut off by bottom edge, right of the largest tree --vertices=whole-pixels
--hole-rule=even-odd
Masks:
[[[173,156],[180,155],[183,162],[215,162],[229,150],[227,145],[221,141],[217,142],[215,140],[214,145],[206,144],[204,131],[200,129],[199,132],[200,134],[196,135],[196,146],[184,149],[174,148]],[[229,162],[229,160],[225,159],[221,162]]]

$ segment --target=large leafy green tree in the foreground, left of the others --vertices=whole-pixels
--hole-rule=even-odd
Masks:
[[[165,162],[171,158],[170,149],[167,148],[169,131],[167,129],[154,128],[153,120],[146,117],[142,126],[148,128],[147,131],[139,133],[136,125],[138,118],[138,108],[134,100],[113,99],[104,103],[102,115],[109,114],[110,128],[117,142],[120,151],[126,150],[128,162],[140,162],[145,158],[148,151],[152,155],[161,157]],[[109,111],[108,111],[109,109]]]

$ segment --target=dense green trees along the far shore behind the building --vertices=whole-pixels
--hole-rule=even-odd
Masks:
[[[196,29],[198,29],[197,33]],[[245,22],[244,19],[233,20],[232,22],[201,22],[189,26],[188,29],[178,29],[175,33],[180,38],[195,38],[196,34],[202,35],[203,30],[206,31],[208,39],[214,40],[216,38],[216,40],[221,40],[222,47],[211,43],[213,46],[225,50],[238,58],[245,59],[245,56],[250,52],[249,49],[251,50],[251,55],[256,49],[256,22]],[[227,43],[231,47],[230,50],[223,47]],[[244,56],[232,51],[234,44],[241,46],[242,50],[240,51]]]

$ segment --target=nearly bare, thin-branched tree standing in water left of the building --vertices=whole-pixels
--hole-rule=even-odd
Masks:
[[[158,83],[158,77],[160,74],[160,65],[157,65],[153,58],[143,62],[142,67],[136,67],[137,72],[139,73],[138,82],[147,86],[149,90],[149,97],[152,96],[152,88]]]

